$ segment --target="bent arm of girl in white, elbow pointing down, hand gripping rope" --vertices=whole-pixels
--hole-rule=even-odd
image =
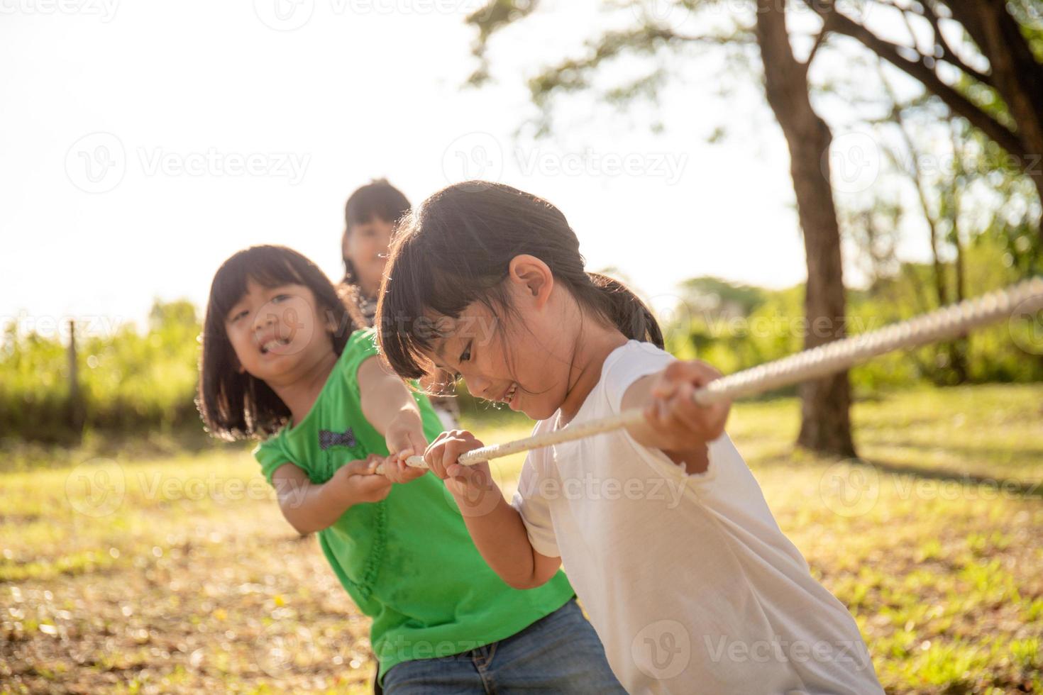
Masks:
[[[428,447],[423,460],[445,480],[486,564],[514,589],[542,586],[561,567],[561,557],[541,554],[532,547],[522,516],[504,499],[488,463],[456,463],[461,453],[481,446],[470,432],[454,429],[442,432]]]

